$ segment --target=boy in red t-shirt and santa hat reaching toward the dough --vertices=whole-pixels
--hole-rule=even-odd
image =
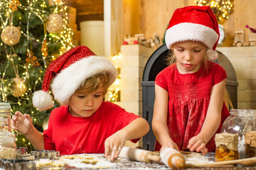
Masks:
[[[50,113],[48,129],[38,132],[31,117],[16,112],[14,130],[25,135],[38,150],[60,154],[104,153],[117,158],[126,140],[137,142],[149,131],[149,124],[114,103],[103,101],[107,88],[117,78],[117,70],[104,57],[85,46],[65,52],[46,69],[41,91],[33,95],[39,110],[53,107],[48,93],[50,81],[55,99],[62,105]]]

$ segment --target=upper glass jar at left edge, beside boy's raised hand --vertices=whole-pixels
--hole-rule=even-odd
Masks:
[[[0,103],[0,130],[11,132],[11,104]]]

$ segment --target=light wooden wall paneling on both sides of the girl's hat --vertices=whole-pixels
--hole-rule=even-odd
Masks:
[[[123,0],[124,2],[124,34],[144,33],[146,38],[157,33],[160,38],[176,8],[196,5],[194,0],[170,1],[170,0]],[[247,40],[248,24],[256,28],[256,1],[233,0],[233,13],[230,18],[221,25],[225,28],[227,38],[223,47],[233,46],[234,31],[245,29]]]

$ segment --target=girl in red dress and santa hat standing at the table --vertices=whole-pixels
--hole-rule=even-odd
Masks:
[[[214,152],[213,136],[229,115],[223,104],[227,74],[213,62],[218,38],[218,21],[210,6],[174,11],[165,35],[174,55],[155,80],[155,150]]]

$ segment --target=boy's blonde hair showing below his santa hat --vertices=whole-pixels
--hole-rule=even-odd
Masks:
[[[102,89],[104,96],[107,93],[107,89],[110,84],[110,75],[107,72],[101,72],[85,79],[84,83],[81,84],[80,88],[75,92],[92,93],[97,89]]]

